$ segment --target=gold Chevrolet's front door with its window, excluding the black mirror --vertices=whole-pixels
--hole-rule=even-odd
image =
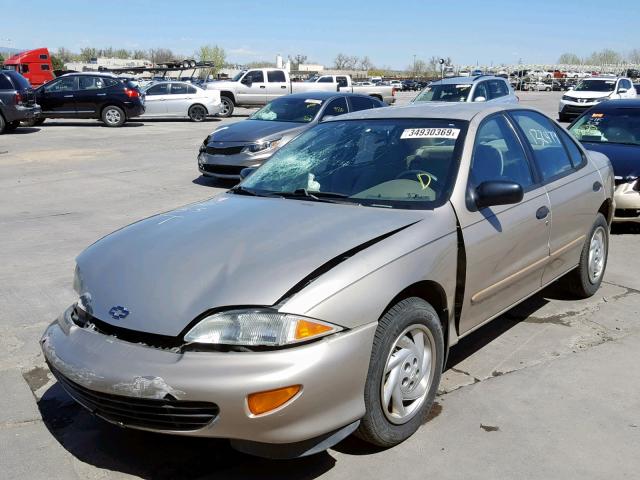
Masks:
[[[522,200],[478,210],[475,188],[495,180],[521,185]],[[489,117],[478,128],[468,191],[466,208],[458,211],[466,275],[461,334],[541,288],[549,259],[549,197],[536,182],[521,139],[502,115]]]

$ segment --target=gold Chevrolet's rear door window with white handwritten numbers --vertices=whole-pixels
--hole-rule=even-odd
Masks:
[[[573,170],[555,125],[537,112],[512,112],[533,151],[533,157],[545,181],[550,181]]]

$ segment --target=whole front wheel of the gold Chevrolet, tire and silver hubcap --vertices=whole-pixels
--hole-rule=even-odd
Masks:
[[[442,325],[421,298],[398,302],[380,320],[356,435],[392,447],[418,429],[433,405],[444,360]]]

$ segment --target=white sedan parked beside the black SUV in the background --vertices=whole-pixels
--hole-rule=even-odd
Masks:
[[[202,122],[222,111],[218,90],[204,90],[187,82],[156,82],[147,86],[143,94],[142,118],[189,117]]]

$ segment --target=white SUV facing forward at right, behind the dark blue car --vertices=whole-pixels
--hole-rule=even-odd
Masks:
[[[562,96],[558,105],[558,118],[561,122],[568,122],[604,100],[636,96],[633,83],[626,77],[585,78]]]

